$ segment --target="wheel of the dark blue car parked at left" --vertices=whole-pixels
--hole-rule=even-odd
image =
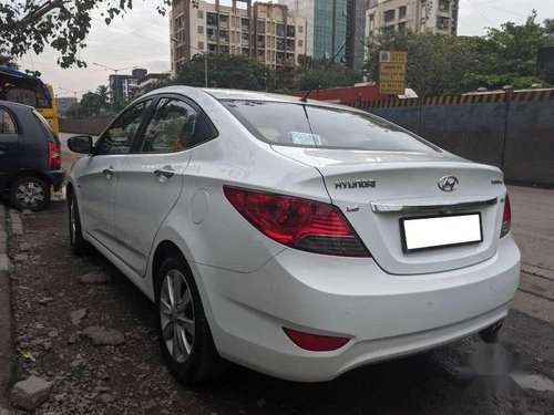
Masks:
[[[10,204],[18,210],[42,210],[50,203],[50,184],[35,176],[22,177],[10,187]]]

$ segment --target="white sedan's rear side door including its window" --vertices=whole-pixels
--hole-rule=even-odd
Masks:
[[[119,256],[138,276],[145,274],[156,232],[181,195],[195,139],[205,135],[201,114],[191,101],[162,96],[145,123],[136,153],[125,158],[119,173],[114,199]]]

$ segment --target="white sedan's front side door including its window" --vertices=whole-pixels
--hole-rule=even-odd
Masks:
[[[134,104],[102,133],[78,181],[83,231],[113,253],[117,252],[113,225],[115,187],[151,104],[152,100]]]

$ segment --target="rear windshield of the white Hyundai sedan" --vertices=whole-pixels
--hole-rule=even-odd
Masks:
[[[437,147],[371,114],[268,101],[222,101],[257,138],[277,145],[386,152]]]

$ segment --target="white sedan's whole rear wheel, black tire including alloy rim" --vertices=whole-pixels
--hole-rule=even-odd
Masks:
[[[179,292],[173,303],[170,286]],[[172,375],[189,385],[220,376],[227,364],[215,349],[198,288],[181,255],[166,258],[156,272],[155,307],[160,347]]]

